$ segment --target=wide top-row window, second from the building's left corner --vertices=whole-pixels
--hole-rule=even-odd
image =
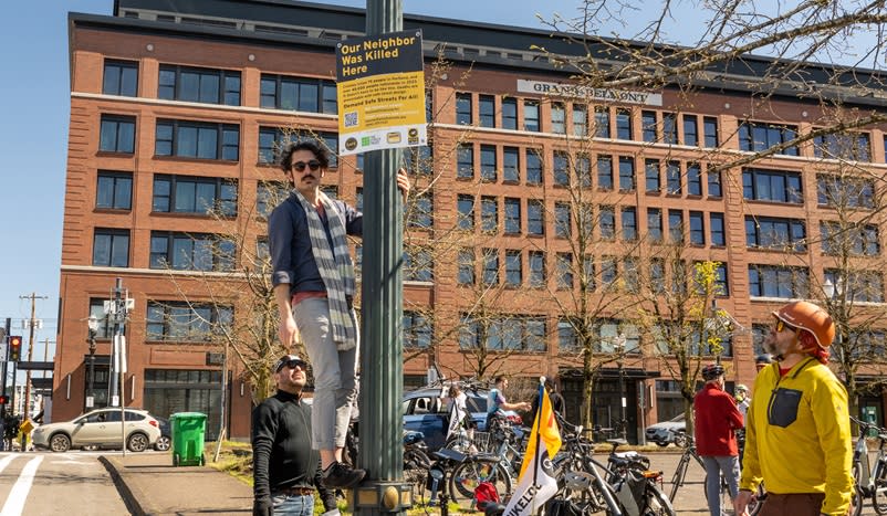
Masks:
[[[160,65],[157,98],[240,105],[240,72]]]

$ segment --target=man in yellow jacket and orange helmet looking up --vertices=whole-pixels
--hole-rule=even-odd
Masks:
[[[773,316],[764,347],[779,361],[754,381],[735,514],[748,514],[763,480],[761,516],[844,516],[853,489],[853,442],[847,391],[826,367],[834,323],[803,301]]]

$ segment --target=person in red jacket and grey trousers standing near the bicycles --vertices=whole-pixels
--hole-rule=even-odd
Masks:
[[[735,431],[743,427],[742,414],[733,397],[723,390],[723,366],[702,368],[706,385],[693,398],[696,451],[706,465],[706,494],[711,516],[721,516],[721,474],[727,480],[730,499],[739,494],[739,446]]]

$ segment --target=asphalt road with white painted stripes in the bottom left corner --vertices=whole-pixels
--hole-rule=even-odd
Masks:
[[[100,454],[0,452],[0,514],[129,514]]]

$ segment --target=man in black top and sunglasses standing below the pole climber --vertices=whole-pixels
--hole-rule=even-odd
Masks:
[[[284,355],[274,364],[276,394],[252,411],[253,516],[314,514],[314,488],[325,510],[335,493],[321,483],[321,457],[311,449],[311,406],[302,400],[307,364]]]

